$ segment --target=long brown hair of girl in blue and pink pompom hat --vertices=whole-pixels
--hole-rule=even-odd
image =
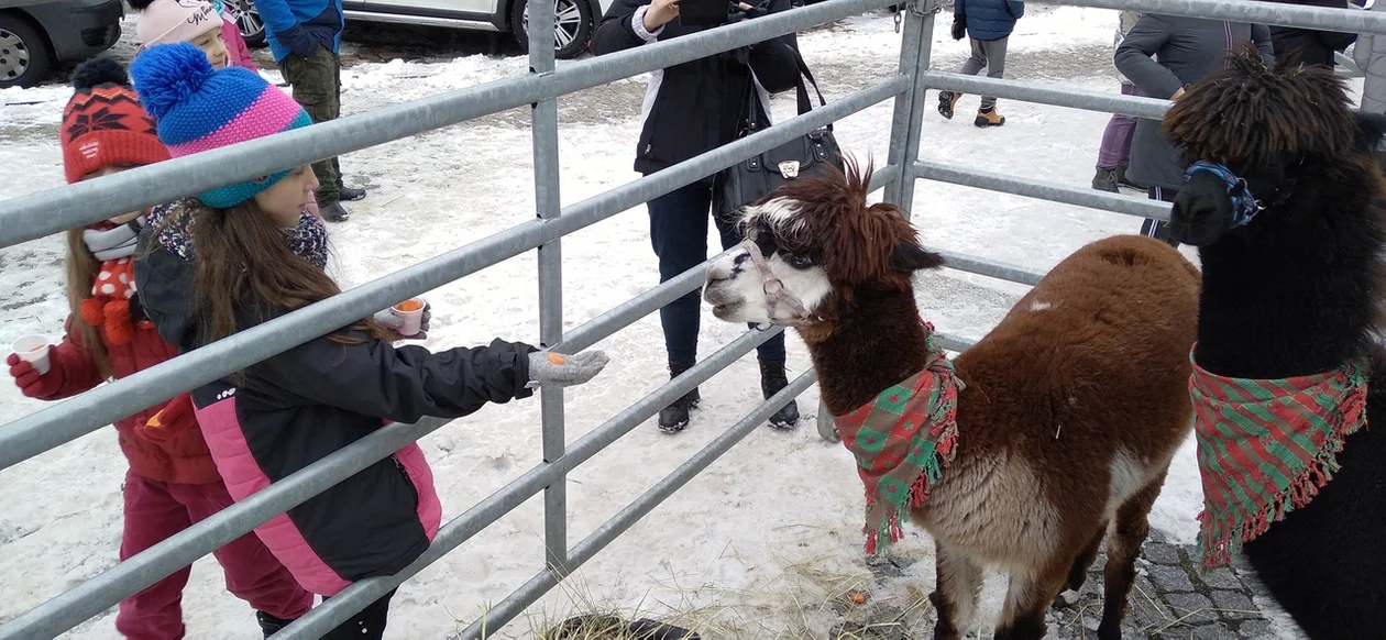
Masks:
[[[213,209],[197,201],[175,208],[168,223],[186,224],[197,254],[194,281],[200,342],[212,342],[243,328],[238,313],[256,313],[255,323],[270,314],[301,309],[341,292],[322,269],[294,254],[284,231],[254,199],[230,209]],[[244,316],[243,316],[244,317]],[[374,320],[351,326],[373,338],[388,339]],[[341,332],[328,335],[340,344],[363,339]]]

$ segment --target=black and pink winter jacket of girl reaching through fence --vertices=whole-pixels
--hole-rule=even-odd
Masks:
[[[136,283],[146,312],[180,350],[201,346],[193,263],[146,234]],[[348,332],[349,334],[349,332]],[[529,345],[495,341],[430,353],[423,346],[317,338],[194,389],[218,471],[243,500],[391,421],[455,418],[532,395]],[[309,592],[333,596],[391,575],[428,549],[442,507],[419,445],[409,445],[258,526],[255,533]]]

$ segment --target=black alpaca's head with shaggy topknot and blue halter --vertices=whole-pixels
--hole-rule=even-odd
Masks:
[[[1371,158],[1379,116],[1354,114],[1343,79],[1319,65],[1267,66],[1254,48],[1196,85],[1164,115],[1164,133],[1184,148],[1185,184],[1170,235],[1206,247],[1256,216],[1313,215],[1282,208],[1301,180]],[[1263,213],[1264,212],[1264,213]]]

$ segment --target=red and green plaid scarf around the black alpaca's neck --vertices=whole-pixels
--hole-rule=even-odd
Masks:
[[[1193,363],[1203,571],[1229,564],[1333,478],[1343,441],[1367,425],[1367,381],[1361,362],[1282,380],[1227,378]]]

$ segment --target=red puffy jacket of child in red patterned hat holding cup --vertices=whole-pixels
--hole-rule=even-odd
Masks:
[[[143,317],[139,295],[130,299],[130,314],[134,320],[134,338],[123,345],[105,345],[111,374],[116,378],[143,371],[177,355],[177,349],[165,342],[154,324]],[[62,342],[49,350],[51,368],[44,378],[57,375],[61,385],[54,393],[40,398],[42,400],[61,400],[105,382],[96,360],[79,337],[71,332],[71,327],[69,317]],[[173,400],[161,402],[115,423],[121,452],[130,461],[130,470],[155,482],[184,485],[219,482],[222,478],[191,413],[183,413],[164,425],[173,434],[168,441],[151,442],[136,434],[137,427],[148,423],[150,417],[159,413],[169,402]]]

